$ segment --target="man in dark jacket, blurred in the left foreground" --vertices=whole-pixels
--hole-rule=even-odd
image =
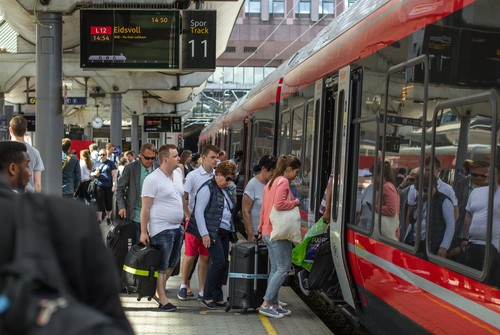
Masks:
[[[61,197],[16,195],[28,166],[24,144],[0,142],[0,333],[133,334],[95,213]]]

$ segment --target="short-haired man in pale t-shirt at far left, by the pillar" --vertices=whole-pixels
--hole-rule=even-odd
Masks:
[[[26,192],[40,193],[42,191],[42,171],[45,170],[42,157],[37,149],[24,141],[28,129],[28,122],[22,115],[14,116],[9,123],[9,132],[12,141],[24,143],[30,158],[30,181]]]

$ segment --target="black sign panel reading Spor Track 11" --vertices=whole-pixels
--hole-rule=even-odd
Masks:
[[[182,12],[183,69],[215,69],[216,19],[215,10]]]

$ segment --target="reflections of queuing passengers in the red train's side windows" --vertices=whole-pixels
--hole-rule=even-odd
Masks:
[[[431,171],[431,165],[433,169]],[[361,194],[356,224],[371,228],[372,211],[375,223],[380,216],[380,234],[394,241],[415,245],[417,256],[428,258],[429,251],[439,257],[448,258],[477,270],[488,269],[486,283],[499,285],[500,275],[500,221],[497,209],[500,204],[498,192],[497,160],[490,176],[487,160],[466,160],[461,173],[457,174],[453,186],[440,178],[441,161],[426,158],[424,172],[419,168],[399,170],[397,178],[389,162],[379,163],[373,182]],[[374,167],[370,172],[374,172]],[[487,236],[488,196],[490,178],[493,187],[493,226],[491,241]],[[380,192],[380,183],[382,191]],[[422,210],[418,210],[418,192],[422,190]],[[375,192],[375,204],[372,204]],[[428,215],[428,213],[430,213]],[[428,222],[428,220],[430,222]],[[420,230],[417,228],[420,227]],[[417,234],[420,234],[417,238]],[[429,241],[426,241],[429,239]],[[426,243],[428,242],[428,243]],[[486,245],[491,243],[490,257],[486,258]],[[485,264],[485,260],[488,264]]]

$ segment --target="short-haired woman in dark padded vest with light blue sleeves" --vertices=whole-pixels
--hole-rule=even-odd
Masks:
[[[227,189],[236,177],[236,165],[223,161],[217,165],[215,176],[205,182],[196,194],[187,232],[201,238],[211,259],[203,299],[208,309],[225,307],[222,284],[228,270],[229,242],[235,227],[232,212],[235,203]]]

